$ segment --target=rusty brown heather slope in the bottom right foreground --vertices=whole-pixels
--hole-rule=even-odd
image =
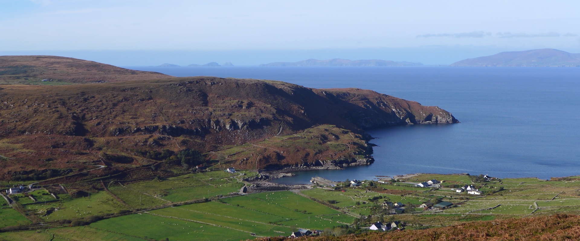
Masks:
[[[543,217],[477,221],[443,228],[368,232],[361,235],[289,238],[261,238],[259,241],[472,241],[472,240],[580,240],[580,216],[556,214]]]

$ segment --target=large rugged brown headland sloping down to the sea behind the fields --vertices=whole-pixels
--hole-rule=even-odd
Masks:
[[[150,165],[186,149],[246,169],[361,165],[372,162],[363,129],[458,122],[439,107],[370,90],[217,77],[2,86],[0,116],[4,180],[103,164],[67,178],[171,175],[180,170]]]

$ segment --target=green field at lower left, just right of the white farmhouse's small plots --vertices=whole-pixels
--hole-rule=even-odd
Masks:
[[[59,202],[37,203],[24,207],[47,221],[117,213],[121,209],[127,209],[104,191],[91,194],[90,198],[72,198],[66,194],[59,195]],[[46,214],[47,210],[48,215]]]

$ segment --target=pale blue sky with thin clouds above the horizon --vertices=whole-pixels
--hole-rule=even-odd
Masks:
[[[117,65],[231,61],[228,53],[242,65],[334,57],[449,64],[495,51],[580,52],[578,9],[580,1],[0,0],[0,54],[100,51],[109,62],[126,59]],[[437,62],[443,50],[451,58]],[[123,57],[135,51],[152,55]]]

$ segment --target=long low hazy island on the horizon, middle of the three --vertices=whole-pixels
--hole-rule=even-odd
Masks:
[[[270,64],[261,64],[260,66],[420,66],[421,63],[413,62],[395,62],[389,60],[343,60],[333,58],[332,60],[303,60],[298,62],[273,62]]]

